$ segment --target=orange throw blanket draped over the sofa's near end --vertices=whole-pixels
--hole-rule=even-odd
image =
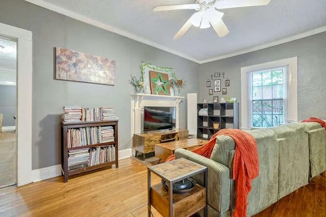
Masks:
[[[252,188],[251,180],[259,174],[257,143],[255,138],[249,133],[238,129],[223,129],[215,133],[207,144],[193,150],[193,152],[210,158],[216,136],[219,135],[230,136],[236,144],[232,174],[236,188],[233,216],[246,216],[248,206],[247,198]],[[174,160],[174,155],[170,156],[166,161],[172,160]]]

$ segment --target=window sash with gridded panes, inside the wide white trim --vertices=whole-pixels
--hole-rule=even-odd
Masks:
[[[253,128],[274,127],[284,122],[284,78],[285,67],[250,73]]]

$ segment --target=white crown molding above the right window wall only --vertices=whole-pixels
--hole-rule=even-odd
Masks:
[[[269,43],[258,45],[258,46],[251,47],[251,48],[248,48],[248,49],[243,49],[243,50],[240,50],[240,51],[237,51],[237,52],[234,52],[234,53],[229,53],[229,54],[225,54],[225,55],[222,55],[222,56],[217,56],[217,57],[210,58],[210,59],[199,60],[199,64],[205,64],[205,63],[209,63],[209,62],[220,60],[220,59],[226,59],[226,58],[229,58],[229,57],[232,57],[232,56],[238,56],[238,55],[241,55],[241,54],[244,54],[244,53],[250,53],[250,52],[253,52],[253,51],[265,49],[265,48],[268,48],[268,47],[273,47],[273,46],[276,46],[276,45],[284,44],[284,43],[294,41],[294,40],[297,40],[297,39],[306,38],[308,36],[316,35],[318,33],[323,33],[323,32],[326,32],[326,26],[322,26],[320,28],[315,28],[315,29],[312,29],[312,30],[310,30],[308,32],[301,33],[301,34],[294,35],[294,36],[290,36],[290,37],[280,39],[280,40],[277,40],[277,41],[274,41],[274,42],[269,42]]]

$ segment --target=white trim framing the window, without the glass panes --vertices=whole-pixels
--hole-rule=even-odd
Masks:
[[[268,63],[241,67],[241,129],[250,130],[248,118],[249,108],[248,103],[248,74],[254,71],[262,71],[264,69],[277,68],[287,66],[287,117],[286,122],[297,121],[297,56],[271,61]]]

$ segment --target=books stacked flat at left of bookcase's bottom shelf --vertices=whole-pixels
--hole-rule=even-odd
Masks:
[[[80,148],[68,151],[68,170],[87,167],[89,164],[89,148]]]

